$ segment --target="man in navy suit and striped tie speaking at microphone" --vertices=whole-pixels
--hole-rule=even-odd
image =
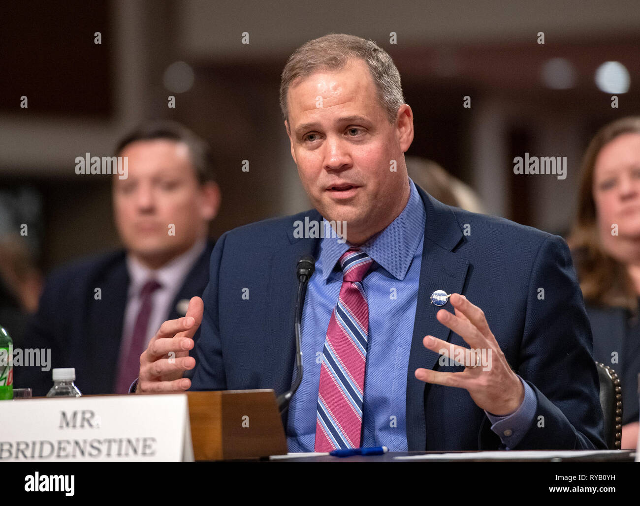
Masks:
[[[163,324],[141,357],[138,391],[285,392],[296,263],[310,253],[305,376],[284,418],[291,451],[604,448],[566,243],[445,206],[413,185],[404,163],[412,110],[374,43],[332,34],[303,45],[282,73],[280,100],[316,210],[220,238],[204,304],[194,298],[186,318]],[[305,218],[346,222],[347,243],[301,237]],[[452,294],[442,309],[429,302],[437,290]],[[194,356],[180,353],[199,326]],[[438,355],[468,348],[486,367]],[[193,367],[192,380],[181,378]]]

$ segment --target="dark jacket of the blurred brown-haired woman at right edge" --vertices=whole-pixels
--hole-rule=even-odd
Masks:
[[[593,332],[593,358],[609,365],[622,387],[622,424],[637,422],[638,374],[640,374],[640,326],[630,330],[629,314],[623,307],[586,305]],[[629,335],[627,335],[629,333]],[[616,355],[612,356],[615,352]]]

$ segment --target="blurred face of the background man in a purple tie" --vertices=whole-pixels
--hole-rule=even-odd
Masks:
[[[198,184],[182,142],[136,141],[120,156],[128,158],[129,177],[113,185],[116,227],[126,249],[157,268],[206,234],[218,210],[217,186]]]

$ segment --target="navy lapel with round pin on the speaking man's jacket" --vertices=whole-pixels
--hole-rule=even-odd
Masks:
[[[424,413],[424,390],[426,383],[415,378],[415,369],[433,369],[438,362],[438,353],[424,348],[422,339],[433,335],[443,341],[451,339],[451,331],[436,319],[441,307],[431,303],[431,294],[436,290],[446,293],[463,293],[467,279],[468,261],[452,252],[464,239],[454,213],[444,204],[417,187],[424,202],[426,223],[420,284],[415,310],[412,344],[409,355],[406,386],[406,437],[409,450],[426,448],[426,418]],[[443,306],[452,310],[451,305]]]

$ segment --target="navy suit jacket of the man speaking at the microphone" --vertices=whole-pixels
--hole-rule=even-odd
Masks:
[[[484,310],[509,364],[531,385],[536,417],[516,449],[605,448],[591,330],[566,243],[419,192],[426,222],[406,388],[408,449],[502,447],[467,390],[429,385],[413,374],[418,367],[460,370],[441,367],[438,355],[422,345],[425,335],[468,348],[436,320],[440,308],[429,300],[436,289],[463,293]],[[319,246],[317,238],[294,238],[294,222],[305,216],[322,219],[311,210],[266,220],[216,243],[192,390],[289,389],[296,263],[305,253],[317,256]]]

